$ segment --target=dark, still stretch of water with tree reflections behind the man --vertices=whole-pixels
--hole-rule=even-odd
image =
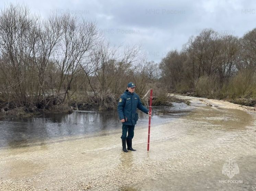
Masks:
[[[185,104],[174,107],[154,107],[152,125],[164,123],[191,110]],[[137,126],[147,127],[148,115],[138,111]],[[72,114],[47,114],[43,117],[2,121],[0,123],[0,147],[23,147],[33,142],[44,142],[57,137],[90,135],[101,132],[106,135],[121,127],[117,111],[83,111]]]

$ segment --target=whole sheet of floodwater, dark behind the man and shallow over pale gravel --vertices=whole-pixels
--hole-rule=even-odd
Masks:
[[[0,190],[256,190],[256,113],[188,99],[154,108],[150,151],[142,113],[128,153],[115,112],[2,122]]]

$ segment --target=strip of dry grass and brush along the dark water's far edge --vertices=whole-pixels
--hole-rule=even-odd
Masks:
[[[96,110],[106,111],[117,108],[119,96],[108,93],[105,95],[86,95],[75,93],[65,102],[59,96],[48,96],[37,101],[24,103],[18,106],[15,101],[0,104],[0,119],[6,118],[30,118],[40,116],[44,113],[72,113],[73,110]],[[173,102],[184,102],[189,105],[189,101],[168,96],[164,91],[155,92],[152,106],[172,106]],[[148,107],[149,97],[142,99],[142,103]]]

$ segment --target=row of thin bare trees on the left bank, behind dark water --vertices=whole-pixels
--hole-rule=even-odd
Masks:
[[[107,108],[106,97],[116,102],[129,81],[140,86],[139,93],[147,91],[146,84],[157,78],[157,68],[147,62],[140,46],[110,46],[94,22],[68,12],[43,19],[26,6],[10,4],[1,10],[0,108],[4,110],[46,108],[85,98],[88,92],[99,107]]]

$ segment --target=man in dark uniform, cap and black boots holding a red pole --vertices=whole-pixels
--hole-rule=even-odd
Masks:
[[[136,151],[132,148],[131,140],[134,136],[134,126],[138,121],[138,113],[136,112],[137,108],[144,113],[149,114],[149,110],[142,105],[139,96],[134,92],[135,87],[136,86],[134,83],[128,83],[127,90],[121,95],[117,106],[119,119],[123,124],[121,139],[124,152],[128,152],[127,149],[131,151]]]

